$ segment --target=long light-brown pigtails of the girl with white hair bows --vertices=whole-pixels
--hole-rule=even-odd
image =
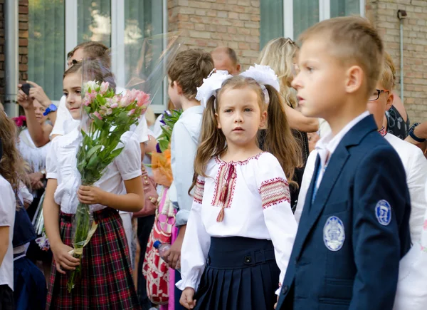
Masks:
[[[279,93],[273,86],[265,85],[270,97],[270,101],[266,105],[263,90],[257,81],[253,78],[233,76],[233,78],[225,81],[218,91],[216,104],[214,95],[207,102],[201,125],[201,143],[197,148],[194,160],[194,179],[189,192],[196,185],[199,175],[206,177],[205,171],[209,160],[214,156],[220,156],[227,150],[226,136],[221,129],[218,129],[218,122],[215,117],[215,113],[218,113],[218,107],[221,105],[221,94],[229,89],[242,88],[251,88],[255,91],[258,95],[261,113],[267,110],[268,128],[265,135],[264,150],[272,153],[278,159],[290,183],[295,167],[302,165],[300,145],[290,131],[285,107]]]

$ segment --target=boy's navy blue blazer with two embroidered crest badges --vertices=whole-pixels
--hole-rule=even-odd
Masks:
[[[399,260],[411,246],[406,175],[369,115],[307,192],[276,309],[393,309]]]

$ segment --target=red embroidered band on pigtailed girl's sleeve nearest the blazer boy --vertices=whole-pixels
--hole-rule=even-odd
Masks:
[[[281,177],[266,180],[261,183],[258,189],[263,201],[263,209],[267,209],[273,205],[278,205],[282,202],[290,203],[289,184],[287,180]]]

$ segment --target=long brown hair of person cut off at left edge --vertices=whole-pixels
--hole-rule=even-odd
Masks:
[[[26,164],[16,148],[18,130],[13,120],[0,110],[0,138],[3,155],[0,158],[0,175],[9,182],[17,194],[20,180],[26,181]]]

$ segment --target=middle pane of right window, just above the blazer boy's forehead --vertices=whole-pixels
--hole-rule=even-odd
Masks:
[[[319,21],[319,0],[294,0],[294,38]]]

